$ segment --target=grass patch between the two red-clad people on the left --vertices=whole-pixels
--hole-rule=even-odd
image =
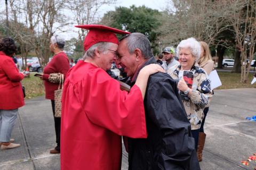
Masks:
[[[36,72],[30,72],[30,77],[26,77],[22,80],[22,86],[25,86],[26,98],[31,99],[38,96],[43,96],[44,92],[44,83],[38,77],[34,75]]]

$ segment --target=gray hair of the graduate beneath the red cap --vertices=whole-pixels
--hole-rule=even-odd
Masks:
[[[100,43],[96,43],[94,45],[92,45],[89,49],[86,50],[84,56],[83,56],[83,60],[85,60],[85,58],[87,57],[91,57],[93,58],[95,55],[95,49],[98,48],[98,50],[100,52],[102,52],[103,54],[105,54],[107,52],[107,50],[113,45],[113,43],[109,43],[109,42],[100,42]]]

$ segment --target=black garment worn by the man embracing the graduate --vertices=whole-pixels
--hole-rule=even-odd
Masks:
[[[153,57],[143,66],[151,63],[156,63]],[[144,105],[148,138],[128,139],[129,170],[200,169],[177,81],[167,73],[151,75]]]

